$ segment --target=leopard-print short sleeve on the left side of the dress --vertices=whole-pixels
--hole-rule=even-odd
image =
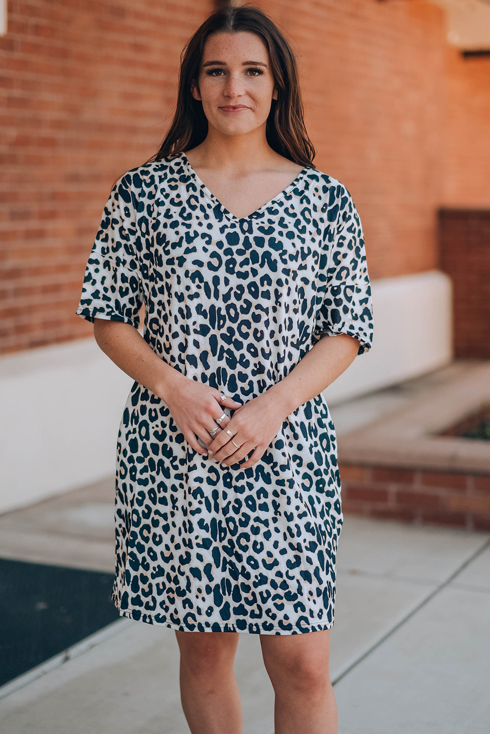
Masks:
[[[143,284],[137,257],[138,230],[131,194],[131,175],[114,185],[85,269],[78,316],[123,321],[136,329],[143,305]]]

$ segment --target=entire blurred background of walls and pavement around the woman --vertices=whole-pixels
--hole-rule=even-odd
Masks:
[[[372,283],[372,349],[325,390],[339,732],[487,734],[490,2],[256,4],[298,54],[314,164],[353,195]],[[110,598],[132,380],[75,312],[112,184],[158,150],[181,50],[223,5],[0,0],[5,734],[188,730],[175,637]],[[273,731],[258,637],[237,653],[248,734]]]

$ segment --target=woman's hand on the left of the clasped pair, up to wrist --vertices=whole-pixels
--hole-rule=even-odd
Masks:
[[[230,418],[226,416],[221,425],[216,423],[216,418],[220,418],[224,413],[223,407],[231,410],[237,410],[237,407],[240,407],[240,403],[229,397],[221,401],[220,396],[220,390],[210,388],[209,385],[203,385],[202,382],[197,382],[182,374],[174,376],[172,389],[165,393],[165,403],[179,430],[184,434],[190,446],[203,456],[207,456],[207,451],[198,442],[196,435],[206,446],[209,446],[213,440],[209,431],[217,428],[217,435],[219,435],[223,433],[223,428],[230,421]],[[229,438],[227,433],[225,435]]]

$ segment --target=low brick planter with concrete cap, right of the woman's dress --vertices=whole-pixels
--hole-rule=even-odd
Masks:
[[[339,437],[346,514],[490,530],[488,441],[440,436],[490,403],[490,362]]]

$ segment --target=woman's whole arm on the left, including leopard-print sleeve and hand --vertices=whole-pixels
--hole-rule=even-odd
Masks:
[[[216,418],[222,415],[223,407],[237,409],[240,404],[229,397],[220,401],[220,390],[170,366],[155,354],[137,330],[144,286],[138,255],[137,214],[129,206],[130,201],[134,201],[134,192],[131,172],[127,172],[112,187],[104,206],[76,313],[93,322],[96,342],[109,359],[162,399],[187,443],[199,454],[205,454],[206,449],[196,436],[209,446],[209,431],[217,426]],[[226,416],[220,428],[228,422]]]

